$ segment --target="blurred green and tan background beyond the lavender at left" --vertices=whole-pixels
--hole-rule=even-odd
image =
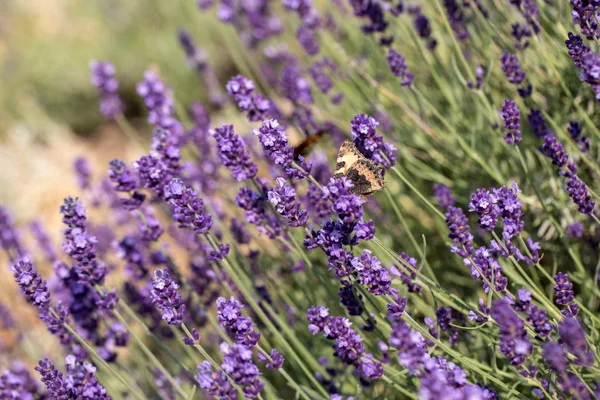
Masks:
[[[219,42],[223,36],[211,31],[220,28],[210,14],[198,12],[193,1],[0,2],[0,205],[10,209],[26,243],[27,223],[37,219],[59,245],[58,207],[66,196],[81,195],[72,169],[76,157],[85,156],[98,177],[111,159],[133,160],[142,154],[139,145],[99,113],[90,61],[106,59],[117,67],[126,117],[149,138],[151,129],[135,92],[145,70],[159,70],[183,104],[205,100],[202,79],[186,65],[179,29],[186,29],[211,53],[221,82],[235,73],[228,53],[216,51],[224,47]],[[0,254],[0,302],[13,315],[14,310],[25,310],[18,313],[25,318],[13,323],[40,325],[35,310],[19,295],[7,262]],[[42,268],[42,273],[48,276],[50,271]],[[10,348],[20,340],[18,347],[38,359],[40,354],[32,352],[39,346],[31,345],[30,337],[5,335],[6,324],[0,321],[0,347]],[[44,331],[38,333],[45,335]],[[0,366],[4,361],[9,360],[0,359]]]

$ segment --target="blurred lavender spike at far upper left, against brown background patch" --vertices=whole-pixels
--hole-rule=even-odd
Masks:
[[[106,61],[91,61],[92,85],[100,95],[100,112],[106,118],[113,119],[123,112],[123,103],[117,93],[119,81],[115,78],[115,67]]]

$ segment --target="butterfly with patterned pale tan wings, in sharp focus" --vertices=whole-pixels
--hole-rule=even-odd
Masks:
[[[344,141],[338,151],[334,177],[342,176],[354,184],[350,193],[367,196],[384,188],[383,169],[376,167],[351,140]]]

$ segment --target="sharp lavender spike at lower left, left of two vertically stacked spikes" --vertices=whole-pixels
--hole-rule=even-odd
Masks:
[[[173,281],[166,270],[154,271],[151,297],[152,303],[163,312],[162,318],[169,325],[181,325],[186,307],[181,298],[179,285]]]

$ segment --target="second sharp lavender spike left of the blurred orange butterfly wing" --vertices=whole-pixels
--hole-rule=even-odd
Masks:
[[[210,135],[217,141],[219,160],[231,170],[236,181],[241,182],[256,176],[258,167],[250,159],[244,141],[233,131],[233,125],[222,125],[211,130]]]

